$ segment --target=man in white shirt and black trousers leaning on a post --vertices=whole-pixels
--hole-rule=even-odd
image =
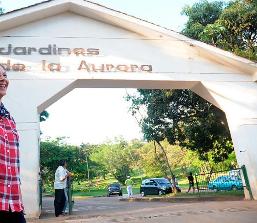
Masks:
[[[57,168],[54,174],[54,212],[56,217],[63,217],[62,210],[65,205],[65,193],[64,189],[66,188],[67,178],[70,176],[69,171],[65,171],[67,163],[65,159],[59,161],[59,167]]]

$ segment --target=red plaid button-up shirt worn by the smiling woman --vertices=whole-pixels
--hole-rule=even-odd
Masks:
[[[1,104],[0,108],[0,211],[22,211],[20,200],[19,135],[15,121]]]

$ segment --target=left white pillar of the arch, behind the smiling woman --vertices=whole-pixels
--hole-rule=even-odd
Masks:
[[[74,89],[74,80],[10,80],[5,107],[16,122],[20,137],[20,177],[26,218],[38,218],[40,179],[39,113]],[[17,91],[18,89],[18,91]]]

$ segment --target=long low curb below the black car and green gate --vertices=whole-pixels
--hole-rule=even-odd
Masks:
[[[118,198],[117,201],[129,202],[203,202],[203,201],[239,201],[244,195],[210,195],[203,197],[155,197],[155,198]]]

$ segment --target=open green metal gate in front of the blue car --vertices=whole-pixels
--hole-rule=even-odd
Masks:
[[[196,174],[195,180],[199,195],[218,191],[232,194],[231,191],[246,188],[249,191],[250,199],[253,200],[245,165],[237,169]]]

